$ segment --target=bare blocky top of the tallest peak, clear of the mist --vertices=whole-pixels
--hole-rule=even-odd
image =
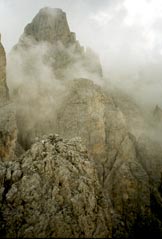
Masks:
[[[66,13],[60,8],[44,7],[40,9],[32,22],[25,27],[25,36],[34,40],[56,43],[60,41],[68,46],[75,42],[75,36],[70,32]]]

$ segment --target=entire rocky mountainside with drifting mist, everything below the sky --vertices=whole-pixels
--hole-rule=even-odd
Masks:
[[[10,92],[0,60],[0,235],[162,238],[160,106],[108,84],[61,9],[25,27]]]

